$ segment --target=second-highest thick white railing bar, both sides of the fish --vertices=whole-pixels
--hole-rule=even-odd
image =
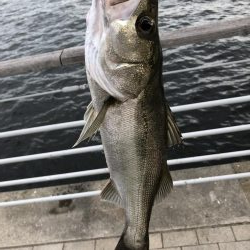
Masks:
[[[246,124],[246,125],[239,125],[239,126],[233,126],[233,127],[217,128],[217,129],[209,129],[209,130],[203,130],[203,131],[183,133],[182,136],[183,136],[183,139],[185,140],[185,139],[190,139],[190,138],[198,138],[198,137],[202,137],[202,136],[211,136],[211,135],[246,131],[249,129],[250,129],[250,124]],[[18,157],[0,159],[0,165],[20,163],[20,162],[26,162],[26,161],[34,161],[34,160],[42,160],[42,159],[51,159],[51,158],[55,158],[55,157],[62,157],[62,156],[68,156],[68,155],[98,152],[101,150],[103,150],[103,146],[96,145],[96,146],[83,147],[83,148],[78,148],[78,149],[67,149],[67,150],[62,150],[62,151],[54,151],[54,152],[48,152],[48,153],[18,156]]]

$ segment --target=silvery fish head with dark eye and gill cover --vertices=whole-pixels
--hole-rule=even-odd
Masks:
[[[161,67],[158,0],[93,0],[88,19],[101,87],[122,101],[135,98]]]

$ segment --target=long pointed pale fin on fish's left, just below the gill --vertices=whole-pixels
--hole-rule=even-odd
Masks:
[[[105,118],[105,115],[107,113],[109,106],[113,103],[113,101],[114,99],[112,97],[107,99],[104,102],[99,113],[95,111],[92,102],[88,105],[87,111],[84,114],[84,120],[86,121],[86,124],[77,142],[75,143],[73,147],[76,147],[77,145],[79,145],[79,143],[81,143],[82,141],[84,141],[85,139],[91,137],[93,134],[96,133],[96,131],[99,129],[99,127],[101,126]]]

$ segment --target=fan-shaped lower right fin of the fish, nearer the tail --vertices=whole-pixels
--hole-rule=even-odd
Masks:
[[[159,184],[158,192],[155,196],[155,204],[160,203],[173,189],[173,180],[167,166],[162,169],[162,176]]]

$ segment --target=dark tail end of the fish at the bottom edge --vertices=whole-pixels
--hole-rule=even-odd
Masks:
[[[143,239],[136,236],[128,237],[127,230],[122,234],[115,250],[149,250],[148,234]]]

